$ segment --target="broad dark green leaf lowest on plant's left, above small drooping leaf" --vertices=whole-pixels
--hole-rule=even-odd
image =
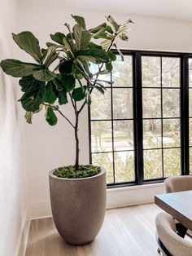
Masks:
[[[39,110],[40,105],[44,101],[45,93],[46,90],[44,85],[39,86],[39,88],[35,92],[25,92],[20,99],[23,108],[28,112],[35,112]]]

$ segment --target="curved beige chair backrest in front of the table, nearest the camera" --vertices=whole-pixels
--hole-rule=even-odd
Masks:
[[[159,240],[172,256],[192,255],[192,242],[177,235],[176,225],[171,215],[161,212],[157,214],[155,223]]]

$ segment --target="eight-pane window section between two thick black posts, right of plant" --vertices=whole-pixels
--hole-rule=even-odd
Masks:
[[[181,58],[142,56],[144,179],[181,174]]]

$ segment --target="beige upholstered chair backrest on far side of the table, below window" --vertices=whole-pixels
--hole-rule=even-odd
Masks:
[[[192,176],[173,176],[165,179],[164,188],[166,193],[192,190]]]

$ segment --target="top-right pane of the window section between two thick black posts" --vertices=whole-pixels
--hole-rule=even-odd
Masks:
[[[162,86],[180,87],[180,59],[162,58]]]

